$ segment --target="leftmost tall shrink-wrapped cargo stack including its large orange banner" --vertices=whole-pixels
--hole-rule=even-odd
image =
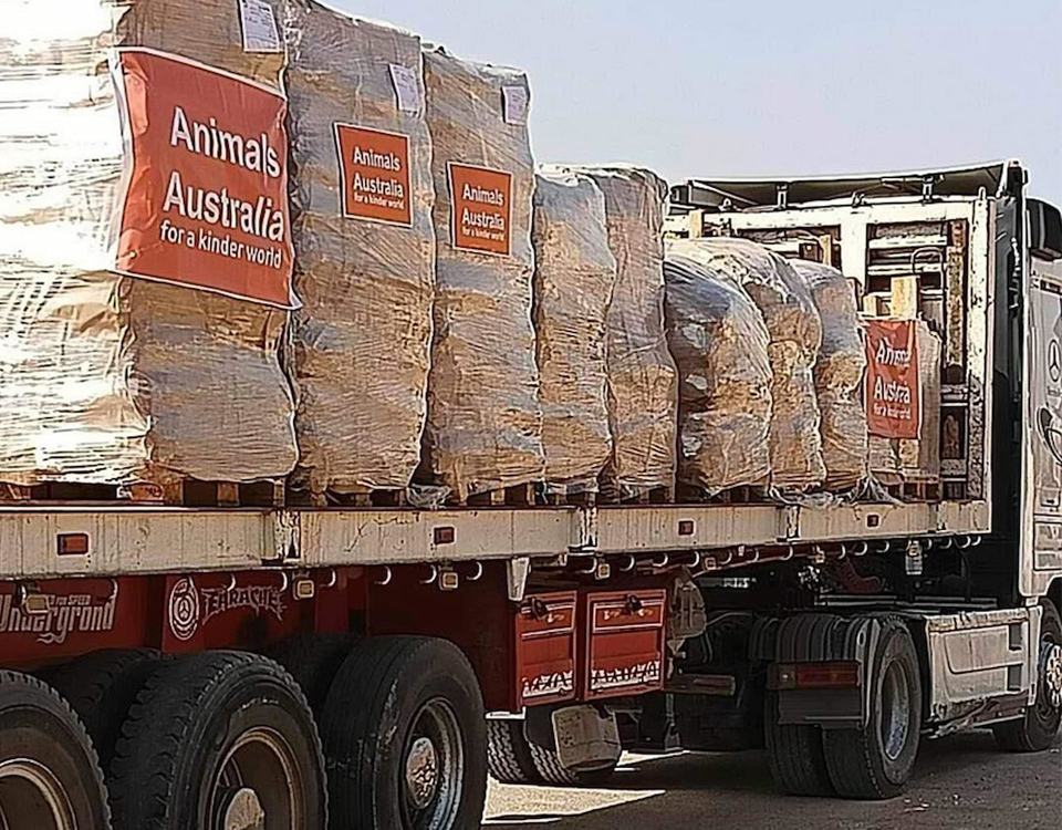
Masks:
[[[284,59],[269,7],[256,28],[232,0],[17,6],[0,39],[0,481],[180,499],[189,479],[285,476]],[[108,73],[110,46],[232,74],[147,52]]]

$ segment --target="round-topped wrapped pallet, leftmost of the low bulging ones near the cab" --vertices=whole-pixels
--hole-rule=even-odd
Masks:
[[[771,476],[770,335],[742,288],[668,242],[667,342],[678,367],[678,483],[711,496]]]

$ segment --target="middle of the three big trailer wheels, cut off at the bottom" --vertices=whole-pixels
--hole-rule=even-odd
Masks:
[[[204,652],[137,696],[111,769],[119,830],[324,830],[324,760],[298,684],[266,657]]]

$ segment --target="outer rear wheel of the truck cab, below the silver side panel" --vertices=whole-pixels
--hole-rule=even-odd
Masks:
[[[866,726],[822,730],[826,768],[840,796],[894,798],[907,786],[922,732],[918,654],[898,620],[883,622],[867,682],[871,712]]]

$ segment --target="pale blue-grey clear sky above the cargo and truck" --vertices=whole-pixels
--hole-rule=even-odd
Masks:
[[[1062,0],[330,0],[531,81],[540,162],[689,177],[1019,158],[1062,205]]]

